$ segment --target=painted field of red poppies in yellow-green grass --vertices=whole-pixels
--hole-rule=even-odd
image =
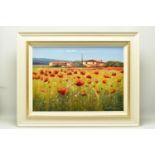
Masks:
[[[123,67],[33,66],[33,111],[123,111]]]

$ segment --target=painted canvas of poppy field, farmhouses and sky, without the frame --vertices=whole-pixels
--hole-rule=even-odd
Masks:
[[[123,47],[33,47],[33,111],[123,111]]]

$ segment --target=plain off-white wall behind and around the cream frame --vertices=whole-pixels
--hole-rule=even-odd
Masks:
[[[16,34],[21,31],[139,32],[141,127],[155,128],[155,27],[0,27],[0,128],[16,127]]]

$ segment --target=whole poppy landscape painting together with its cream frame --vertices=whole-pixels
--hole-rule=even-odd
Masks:
[[[135,32],[18,34],[19,126],[139,124]]]

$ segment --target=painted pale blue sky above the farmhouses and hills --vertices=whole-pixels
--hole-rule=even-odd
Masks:
[[[122,47],[33,47],[33,58],[57,60],[115,60],[123,62]]]

